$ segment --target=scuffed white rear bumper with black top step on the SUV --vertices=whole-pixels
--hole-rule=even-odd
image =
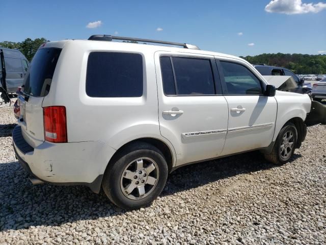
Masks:
[[[103,142],[41,143],[32,148],[20,126],[13,147],[21,166],[33,177],[55,185],[86,185],[98,193],[106,165],[115,150]]]

